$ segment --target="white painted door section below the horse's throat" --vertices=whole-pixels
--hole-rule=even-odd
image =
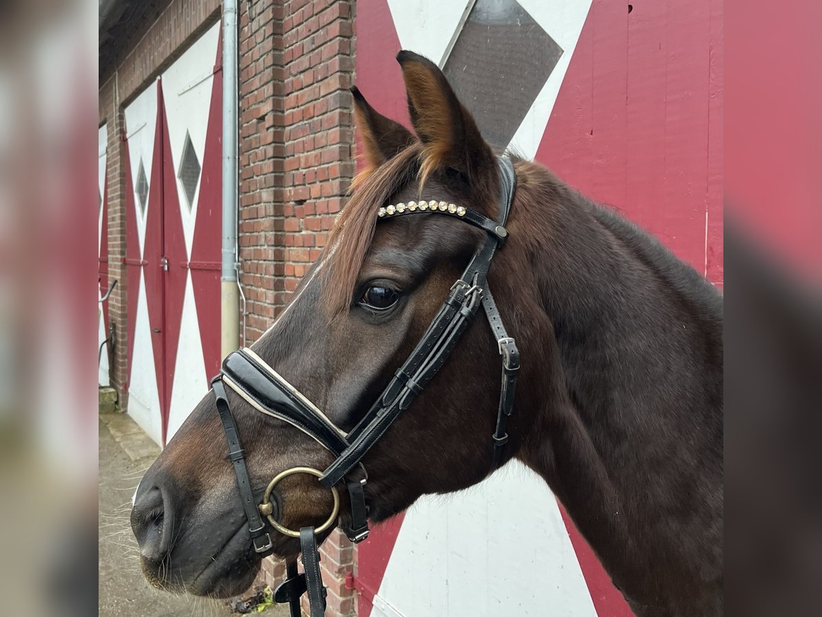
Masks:
[[[596,617],[556,499],[510,462],[405,513],[372,615]]]

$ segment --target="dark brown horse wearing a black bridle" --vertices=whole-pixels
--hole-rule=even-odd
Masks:
[[[328,247],[291,304],[252,346],[350,429],[423,335],[484,234],[430,213],[381,221],[381,206],[464,204],[494,218],[496,158],[440,70],[398,56],[416,136],[353,91],[367,168]],[[723,611],[723,298],[655,239],[515,160],[510,239],[489,285],[522,370],[503,459],[543,476],[638,615]],[[423,494],[487,476],[499,356],[487,323],[469,326],[409,411],[363,459],[381,521]],[[235,392],[255,494],[326,449]],[[206,396],[146,473],[132,527],[155,584],[229,596],[260,566]],[[310,476],[277,491],[280,522],[318,525],[330,494]],[[340,522],[348,504],[343,499]],[[297,540],[272,534],[291,558]]]

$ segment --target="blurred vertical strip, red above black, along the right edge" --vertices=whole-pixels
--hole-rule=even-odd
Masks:
[[[730,0],[727,615],[822,615],[822,3]]]

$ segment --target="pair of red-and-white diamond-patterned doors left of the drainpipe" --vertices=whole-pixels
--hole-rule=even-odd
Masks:
[[[219,33],[126,108],[128,411],[161,444],[219,367]]]

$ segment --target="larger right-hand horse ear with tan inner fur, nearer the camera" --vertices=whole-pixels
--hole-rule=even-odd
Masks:
[[[436,64],[418,53],[401,51],[411,123],[425,146],[421,166],[423,181],[434,169],[455,169],[469,183],[484,179],[494,169],[494,154],[457,99]]]

